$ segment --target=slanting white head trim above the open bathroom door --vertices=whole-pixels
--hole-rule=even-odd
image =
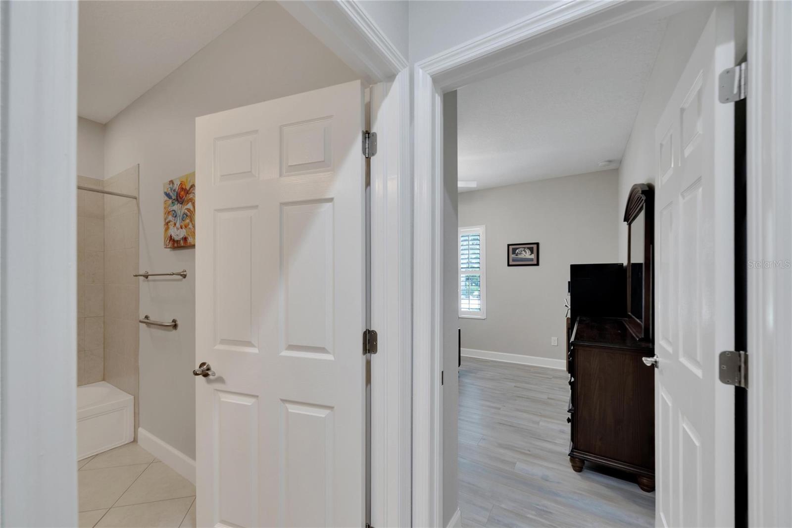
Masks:
[[[280,6],[369,84],[393,79],[407,59],[355,0],[295,2]]]

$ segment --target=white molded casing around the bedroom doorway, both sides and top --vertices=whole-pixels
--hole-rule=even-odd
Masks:
[[[752,219],[749,222],[752,223],[748,228],[748,254],[750,258],[750,255],[753,254],[752,250],[756,250],[756,254],[778,254],[777,258],[792,258],[792,254],[790,254],[790,250],[792,250],[790,218],[788,213],[783,212],[785,207],[783,204],[788,204],[792,197],[788,174],[788,145],[792,133],[790,133],[788,121],[780,122],[782,116],[789,115],[788,94],[789,90],[792,90],[792,86],[790,86],[790,36],[788,30],[785,34],[782,29],[785,27],[784,23],[787,23],[786,27],[788,28],[790,16],[786,14],[785,18],[779,19],[779,13],[774,13],[776,16],[775,25],[771,26],[772,17],[770,14],[773,10],[778,12],[786,9],[788,12],[789,6],[783,8],[770,4],[761,6],[761,2],[751,2],[751,4],[752,25],[748,38],[749,48],[752,48],[754,53],[752,56],[756,57],[756,53],[760,49],[765,55],[771,55],[769,53],[771,45],[786,46],[786,52],[781,56],[775,55],[774,62],[767,64],[768,67],[774,67],[775,77],[766,71],[764,77],[760,78],[760,75],[756,71],[752,71],[751,67],[748,69],[749,75],[751,75],[752,87],[750,90],[752,90],[752,94],[760,92],[764,84],[765,89],[775,96],[772,101],[763,101],[765,105],[763,106],[764,119],[761,122],[749,123],[748,133],[750,135],[753,131],[753,135],[757,136],[756,132],[760,128],[760,124],[763,124],[764,133],[761,139],[765,142],[766,147],[768,144],[775,147],[776,155],[781,151],[786,154],[786,159],[784,159],[786,165],[781,163],[780,158],[760,159],[757,156],[760,140],[758,138],[755,138],[754,141],[749,140],[748,155],[753,159],[753,170],[749,169],[748,171],[748,188],[754,189],[756,193],[756,188],[761,183],[757,180],[759,171],[771,170],[771,172],[763,173],[765,195],[762,197],[749,196],[748,216],[749,219]],[[413,197],[415,226],[413,235],[413,526],[442,526],[443,473],[440,447],[442,446],[443,423],[443,402],[440,391],[441,351],[443,350],[440,327],[440,322],[443,320],[443,293],[440,276],[443,233],[442,201],[440,200],[443,185],[442,94],[469,82],[519,67],[550,53],[595,40],[602,36],[605,30],[612,32],[625,25],[638,25],[651,18],[668,17],[688,7],[691,6],[684,6],[682,2],[569,2],[557,4],[415,65],[413,71],[413,178],[415,178]],[[760,16],[763,17],[762,20],[758,20]],[[762,48],[759,47],[759,44],[763,44]],[[775,52],[775,48],[773,49]],[[757,59],[754,59],[754,62]],[[767,56],[764,59],[770,60]],[[786,62],[784,62],[785,60]],[[779,73],[785,76],[779,79]],[[769,86],[770,82],[775,82],[775,86]],[[786,88],[786,90],[782,90],[782,88]],[[752,95],[749,95],[749,101],[751,97]],[[756,101],[749,102],[749,109],[753,108],[752,105],[758,104],[760,103]],[[787,113],[779,112],[780,109],[786,110]],[[775,124],[775,127],[770,127],[770,124]],[[785,194],[782,197],[774,196],[768,189],[783,190]],[[771,212],[784,216],[771,216]],[[764,220],[767,223],[770,216],[772,224],[764,224],[764,229],[777,228],[772,231],[775,240],[772,242],[767,240],[767,234],[765,234],[765,246],[758,247],[754,239],[758,234],[757,231],[761,231],[759,220]],[[786,256],[782,257],[781,253]],[[785,282],[782,285],[786,286],[783,291],[787,294],[792,293],[788,275],[792,271],[779,270],[779,279],[783,273],[787,274],[783,277]],[[766,276],[763,275],[763,277],[769,284],[763,285],[764,296],[761,296],[756,292],[759,286],[759,277],[749,275],[749,281],[752,280],[749,282],[749,297],[754,303],[752,304],[754,308],[749,310],[752,321],[749,326],[753,325],[752,328],[755,329],[753,333],[756,334],[756,327],[760,322],[767,325],[767,317],[764,320],[760,319],[762,312],[759,312],[757,304],[762,304],[766,310],[764,313],[772,313],[775,310],[776,316],[779,316],[780,310],[782,317],[776,320],[782,321],[782,324],[779,324],[778,327],[770,325],[770,328],[765,327],[764,330],[767,339],[771,339],[775,346],[775,362],[779,362],[782,357],[786,362],[783,365],[785,370],[782,373],[775,371],[775,374],[772,374],[772,367],[768,365],[765,367],[767,373],[764,374],[765,378],[771,375],[776,376],[775,394],[781,390],[785,391],[786,400],[779,399],[777,407],[771,412],[766,411],[764,415],[757,415],[754,404],[750,404],[754,419],[760,420],[752,422],[754,425],[752,440],[755,449],[752,450],[752,457],[756,461],[763,462],[762,467],[768,488],[770,482],[783,484],[782,487],[776,488],[777,494],[772,495],[777,499],[768,499],[767,495],[760,495],[759,488],[755,485],[755,483],[758,484],[756,475],[758,469],[754,467],[756,464],[752,464],[751,486],[752,505],[754,506],[752,507],[752,519],[758,518],[754,515],[760,515],[756,511],[756,504],[760,500],[764,500],[765,503],[767,500],[772,500],[771,511],[778,512],[779,515],[774,514],[770,518],[769,524],[771,525],[775,520],[790,518],[790,504],[782,497],[788,495],[792,489],[790,487],[790,473],[792,473],[790,469],[792,468],[790,468],[789,453],[782,453],[785,444],[781,441],[784,438],[789,438],[790,422],[792,422],[788,405],[786,405],[790,399],[790,388],[786,384],[786,380],[792,375],[792,370],[790,370],[788,354],[782,356],[782,348],[790,342],[790,333],[786,328],[792,322],[792,307],[790,307],[789,295],[777,298],[773,289],[775,284]],[[782,331],[785,332],[782,337],[786,339],[779,339]],[[758,336],[754,336],[751,342],[755,343],[757,339],[759,339]],[[751,375],[753,380],[760,374],[757,373],[757,369],[753,369]],[[763,391],[764,388],[756,380],[753,382],[752,388],[749,389],[749,397],[752,402],[756,402],[756,394],[760,390]],[[776,397],[775,394],[771,397]],[[786,412],[786,415],[783,416],[786,421],[779,422],[782,412]],[[768,428],[772,423],[775,423],[775,427]],[[784,424],[783,427],[781,427],[781,423]],[[766,453],[768,457],[763,458],[761,453],[765,450],[762,446],[756,445],[756,437],[760,433],[766,435],[770,430],[775,430],[773,435],[775,450]],[[774,463],[777,464],[778,460],[784,461],[784,465],[771,467]],[[783,493],[786,495],[782,495]],[[781,513],[785,515],[780,515]],[[767,524],[768,522],[756,522],[757,526]]]

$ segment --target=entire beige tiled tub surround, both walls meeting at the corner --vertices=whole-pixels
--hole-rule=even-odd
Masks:
[[[78,184],[138,195],[138,166]],[[107,381],[134,398],[138,429],[138,201],[78,190],[78,385]]]

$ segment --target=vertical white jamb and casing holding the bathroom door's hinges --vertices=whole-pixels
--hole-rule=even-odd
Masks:
[[[371,524],[409,526],[412,475],[412,179],[409,71],[371,86]]]

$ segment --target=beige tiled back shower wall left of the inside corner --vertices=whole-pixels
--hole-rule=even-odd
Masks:
[[[82,186],[102,180],[78,177]],[[105,201],[77,191],[77,385],[102,381],[105,373]]]

